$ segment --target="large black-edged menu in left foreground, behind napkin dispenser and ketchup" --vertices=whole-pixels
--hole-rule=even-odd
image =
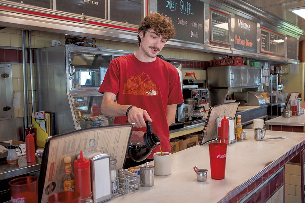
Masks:
[[[80,150],[89,151],[91,139],[96,140],[96,151],[102,152],[105,149],[105,153],[116,158],[117,168],[123,168],[133,126],[133,124],[99,126],[48,137],[38,182],[39,202],[46,203],[50,195],[63,191],[65,174],[63,158],[70,156],[73,163]]]

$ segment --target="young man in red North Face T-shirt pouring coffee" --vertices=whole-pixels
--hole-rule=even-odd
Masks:
[[[99,89],[103,115],[115,117],[114,124],[134,123],[134,131],[146,132],[145,120],[150,121],[166,152],[171,152],[168,126],[183,96],[176,68],[156,56],[175,33],[172,21],[160,13],[146,16],[138,28],[138,51],[112,60]],[[151,161],[158,151],[143,162],[126,159],[124,168]]]

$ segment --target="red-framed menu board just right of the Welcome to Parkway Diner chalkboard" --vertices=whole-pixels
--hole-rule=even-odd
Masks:
[[[262,32],[266,33],[267,36],[262,36]],[[275,40],[279,40],[279,37],[281,37],[284,40],[284,53],[279,53],[279,42],[272,42]],[[287,49],[286,49],[286,35],[280,34],[275,31],[272,31],[267,28],[260,27],[260,53],[266,53],[266,54],[275,54],[276,56],[284,57]],[[263,46],[268,46],[267,48],[264,48]],[[267,50],[265,50],[267,49]]]

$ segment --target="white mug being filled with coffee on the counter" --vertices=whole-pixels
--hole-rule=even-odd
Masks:
[[[162,156],[160,156],[160,154],[161,154],[161,152],[156,152],[153,154],[153,163],[155,166],[154,174],[160,175],[160,176],[170,175],[171,174],[171,153],[162,152]]]

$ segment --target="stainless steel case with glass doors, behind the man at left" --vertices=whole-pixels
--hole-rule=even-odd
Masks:
[[[55,113],[55,134],[113,124],[114,118],[101,115],[98,89],[110,61],[132,52],[72,44],[34,52],[36,111]]]

